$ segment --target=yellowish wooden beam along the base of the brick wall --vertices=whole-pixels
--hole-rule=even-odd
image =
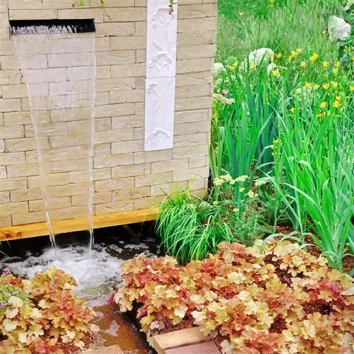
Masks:
[[[136,222],[147,222],[156,219],[158,207],[142,210],[130,210],[129,212],[114,212],[106,215],[95,215],[93,217],[93,228],[135,224]],[[87,219],[64,219],[56,221],[53,226],[55,234],[66,234],[68,232],[83,231],[87,229]],[[36,222],[35,224],[24,224],[12,227],[0,227],[0,241],[12,241],[17,239],[28,239],[29,237],[48,235],[47,223]]]

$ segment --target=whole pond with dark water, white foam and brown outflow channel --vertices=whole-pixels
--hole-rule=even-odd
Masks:
[[[86,232],[57,236],[57,252],[47,236],[3,242],[0,270],[9,268],[16,275],[32,278],[51,265],[63,269],[78,282],[76,294],[96,312],[93,323],[101,331],[93,347],[118,344],[126,354],[153,353],[131,319],[108,305],[108,299],[122,281],[122,261],[143,252],[149,256],[158,253],[154,224],[96,230],[91,259],[87,253],[87,237]]]

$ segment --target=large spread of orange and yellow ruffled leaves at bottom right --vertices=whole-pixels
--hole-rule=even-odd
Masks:
[[[338,354],[353,344],[353,280],[288,241],[222,244],[185,267],[142,254],[122,274],[115,302],[123,312],[138,304],[148,334],[192,319],[223,353]]]

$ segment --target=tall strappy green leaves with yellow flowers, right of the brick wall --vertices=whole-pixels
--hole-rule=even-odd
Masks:
[[[215,184],[225,171],[239,176],[239,166],[249,185],[267,183],[266,221],[290,222],[302,244],[312,236],[340,270],[347,246],[354,250],[352,73],[353,58],[341,64],[299,48],[268,67],[232,64],[216,80],[216,94],[232,103],[215,100],[210,160]]]

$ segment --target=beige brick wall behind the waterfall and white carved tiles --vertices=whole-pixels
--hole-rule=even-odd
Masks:
[[[45,220],[28,95],[9,20],[95,20],[97,215],[156,205],[176,188],[202,193],[207,187],[217,0],[178,0],[174,143],[173,149],[158,152],[144,152],[147,0],[105,0],[104,9],[99,0],[85,0],[83,8],[72,7],[73,2],[1,0],[0,227]],[[53,57],[52,66],[59,61]],[[75,118],[68,112],[68,129],[70,120]],[[60,149],[60,139],[51,144]],[[68,159],[80,159],[79,149],[66,153]],[[58,215],[80,215],[84,200],[77,171],[68,168],[50,179]]]

